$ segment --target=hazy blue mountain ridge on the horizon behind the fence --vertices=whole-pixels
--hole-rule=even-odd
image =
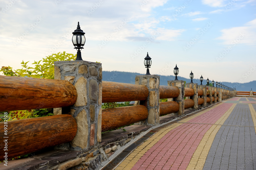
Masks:
[[[135,76],[136,75],[143,75],[140,73],[131,73],[131,72],[120,72],[120,71],[102,71],[102,80],[109,81],[109,82],[119,82],[119,83],[135,83]],[[175,76],[160,76],[160,85],[167,85],[168,80],[174,80]],[[179,77],[178,80],[184,80],[186,82],[190,82],[191,80],[184,77]],[[200,80],[193,79],[194,83],[201,84]],[[216,82],[215,82],[216,83]],[[230,83],[230,82],[221,82],[222,84],[228,87],[236,87],[237,91],[256,91],[256,81],[248,82],[248,83]],[[203,80],[202,84],[206,85],[206,80]],[[214,85],[216,87],[216,85]]]

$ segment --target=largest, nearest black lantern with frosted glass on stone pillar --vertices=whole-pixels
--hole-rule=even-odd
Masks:
[[[77,58],[76,60],[83,60],[81,56],[81,49],[83,49],[84,43],[85,43],[85,36],[83,30],[80,29],[79,22],[77,25],[77,29],[72,32],[72,42],[75,46],[75,49],[77,49]]]

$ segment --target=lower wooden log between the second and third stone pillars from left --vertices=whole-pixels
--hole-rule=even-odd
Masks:
[[[160,102],[160,116],[175,113],[179,111],[179,104],[176,101]]]

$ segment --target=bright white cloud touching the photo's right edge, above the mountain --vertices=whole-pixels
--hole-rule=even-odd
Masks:
[[[216,39],[223,40],[225,45],[256,45],[256,19],[247,22],[245,26],[223,29],[221,32],[222,35]]]

